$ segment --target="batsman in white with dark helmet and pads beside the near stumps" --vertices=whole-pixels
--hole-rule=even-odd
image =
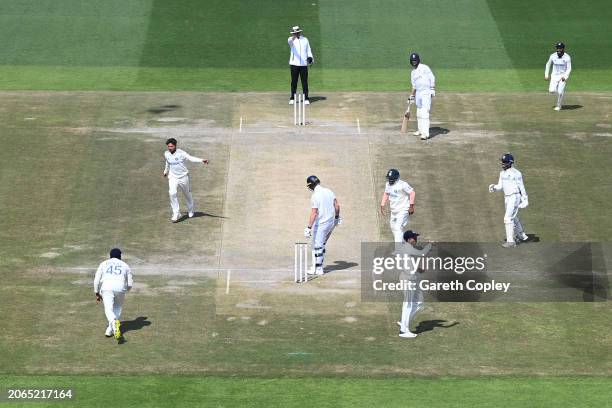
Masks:
[[[321,181],[317,176],[309,176],[306,179],[306,187],[312,191],[312,196],[310,216],[308,226],[304,229],[304,236],[312,237],[312,257],[314,259],[313,268],[308,273],[323,275],[325,245],[334,227],[342,223],[340,204],[333,191],[321,186]]]

